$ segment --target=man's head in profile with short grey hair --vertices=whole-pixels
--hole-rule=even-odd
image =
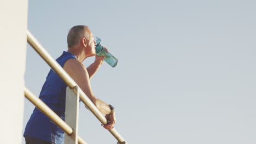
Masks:
[[[96,55],[94,35],[88,26],[74,26],[67,35],[68,49],[82,49],[88,57]]]

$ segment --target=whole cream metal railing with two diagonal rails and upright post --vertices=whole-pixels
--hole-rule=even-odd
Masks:
[[[79,143],[86,143],[83,139],[81,139],[77,135],[77,133],[78,133],[77,132],[77,130],[78,130],[78,107],[77,107],[77,104],[78,104],[78,101],[79,101],[78,97],[80,98],[80,100],[86,105],[86,107],[88,107],[88,109],[96,116],[96,118],[102,124],[104,124],[104,125],[107,124],[108,123],[107,119],[101,114],[101,112],[97,109],[97,107],[85,95],[85,93],[82,91],[82,89],[79,88],[77,83],[75,83],[75,81],[66,73],[66,71],[60,66],[60,64],[57,63],[53,57],[51,57],[51,55],[43,48],[42,45],[40,45],[40,43],[36,40],[36,38],[33,37],[33,35],[28,30],[27,30],[27,43],[30,44],[33,47],[33,49],[40,55],[40,57],[42,57],[44,59],[44,61],[46,63],[48,63],[48,65],[51,67],[51,69],[53,69],[55,71],[55,73],[57,75],[59,75],[65,83],[67,83],[68,87],[67,87],[66,99],[72,99],[72,101],[73,101],[71,103],[67,103],[67,100],[66,100],[66,116],[65,116],[66,118],[65,118],[65,121],[67,123],[61,122],[62,119],[59,116],[57,116],[56,113],[54,115],[53,111],[49,112],[50,108],[48,106],[47,106],[48,108],[45,108],[46,105],[43,103],[43,101],[41,101],[41,102],[45,106],[42,106],[43,104],[41,102],[39,102],[40,101],[39,98],[37,98],[37,100],[35,100],[36,98],[33,98],[34,101],[37,101],[35,103],[33,103],[30,99],[29,100],[34,105],[36,105],[36,103],[40,103],[40,106],[42,107],[42,109],[47,109],[47,110],[45,110],[44,114],[46,116],[48,116],[52,121],[54,121],[53,119],[59,119],[59,120],[56,120],[56,121],[59,122],[59,124],[57,124],[57,123],[56,124],[60,128],[62,128],[63,131],[65,131],[65,133],[66,133],[65,141],[70,140],[70,141],[73,141],[73,142],[78,141]],[[27,88],[25,88],[25,96],[26,96],[26,93],[27,93],[27,95],[33,95],[30,91],[28,91]],[[36,96],[34,96],[34,97],[36,97]],[[26,98],[27,98],[27,96],[26,96]],[[36,105],[36,106],[38,107],[39,105]],[[76,107],[76,109],[74,109],[73,107]],[[39,109],[39,110],[42,110],[42,109]],[[71,110],[71,109],[73,109],[73,110]],[[77,113],[77,115],[74,116],[72,113],[73,114]],[[57,117],[59,117],[59,118],[57,118]],[[71,126],[69,126],[69,125],[71,125]],[[126,143],[126,141],[123,139],[123,137],[114,128],[109,130],[109,132],[115,137],[115,139],[118,140],[119,144]],[[66,138],[66,137],[69,137],[69,138]]]

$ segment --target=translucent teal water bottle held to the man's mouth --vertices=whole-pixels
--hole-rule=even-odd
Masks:
[[[109,65],[111,65],[111,67],[115,67],[118,63],[118,59],[115,58],[114,56],[111,55],[111,53],[109,53],[106,49],[104,49],[101,45],[101,39],[96,37],[96,53],[98,56],[104,56],[105,58],[103,59],[104,61],[106,61]]]

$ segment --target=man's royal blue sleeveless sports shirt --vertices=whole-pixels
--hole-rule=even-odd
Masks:
[[[68,59],[75,58],[72,53],[63,51],[62,55],[56,59],[61,65],[66,63]],[[58,116],[65,121],[65,105],[66,105],[66,83],[52,70],[46,77],[39,98],[44,101]],[[56,144],[64,143],[64,131],[46,117],[37,107],[27,122],[24,136],[28,135],[40,140],[46,140]]]

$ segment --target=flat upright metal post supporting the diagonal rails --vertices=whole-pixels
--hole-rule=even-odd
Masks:
[[[67,87],[66,91],[66,112],[65,122],[73,129],[71,135],[65,133],[65,144],[77,144],[78,143],[78,114],[79,114],[79,91],[75,86],[74,91]]]

